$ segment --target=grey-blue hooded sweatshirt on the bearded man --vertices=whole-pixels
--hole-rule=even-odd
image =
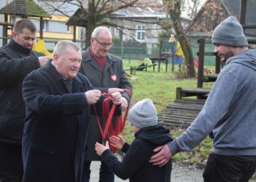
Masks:
[[[256,51],[227,59],[194,122],[175,141],[173,155],[191,151],[207,135],[219,155],[256,155]]]

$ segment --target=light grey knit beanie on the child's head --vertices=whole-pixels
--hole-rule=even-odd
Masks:
[[[146,98],[132,106],[128,120],[139,128],[157,125],[157,110],[152,100]]]

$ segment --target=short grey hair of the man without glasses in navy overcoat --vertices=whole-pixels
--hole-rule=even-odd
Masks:
[[[63,55],[67,47],[73,47],[76,51],[80,51],[81,47],[73,41],[59,41],[54,47],[53,54]]]

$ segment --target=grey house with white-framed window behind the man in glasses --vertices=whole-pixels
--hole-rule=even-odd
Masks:
[[[111,15],[111,22],[116,28],[110,28],[113,37],[121,41],[135,40],[145,43],[147,54],[151,54],[152,47],[158,43],[159,32],[168,30],[173,32],[170,19],[163,9],[153,7],[127,7],[119,9]],[[184,28],[189,19],[181,17]],[[165,30],[164,28],[165,27]]]

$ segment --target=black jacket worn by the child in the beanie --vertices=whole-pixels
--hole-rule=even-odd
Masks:
[[[102,154],[102,160],[113,170],[119,178],[127,179],[131,182],[170,182],[171,162],[163,167],[154,166],[149,163],[149,159],[154,155],[154,149],[162,146],[173,139],[170,137],[170,130],[157,125],[144,127],[135,133],[135,141],[131,146],[126,143],[122,151],[123,162],[113,156],[110,150]]]

